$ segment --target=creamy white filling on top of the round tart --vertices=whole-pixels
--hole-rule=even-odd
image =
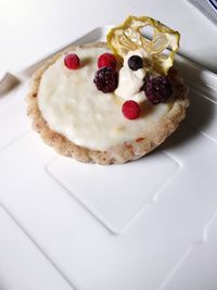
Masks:
[[[102,48],[77,49],[82,65],[75,71],[67,70],[61,56],[43,73],[38,93],[39,109],[50,128],[94,150],[141,137],[170,108],[169,103],[151,105],[145,101],[144,113],[138,119],[126,119],[122,113],[124,101],[114,93],[99,91],[93,84],[98,56],[104,52]],[[135,98],[141,99],[141,94]]]

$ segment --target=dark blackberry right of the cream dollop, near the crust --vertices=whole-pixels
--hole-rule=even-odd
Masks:
[[[169,79],[165,76],[150,77],[144,84],[144,92],[153,104],[166,101],[173,93]]]

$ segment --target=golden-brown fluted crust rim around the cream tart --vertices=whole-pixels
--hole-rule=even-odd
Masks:
[[[159,122],[154,123],[148,130],[141,133],[137,139],[111,147],[105,151],[100,151],[77,146],[62,134],[52,130],[42,117],[38,106],[37,94],[40,79],[43,72],[62,54],[65,54],[69,50],[73,51],[73,49],[77,47],[80,49],[86,49],[88,47],[106,48],[106,43],[92,42],[68,47],[66,50],[56,53],[54,56],[46,61],[44,64],[36,71],[31,78],[30,89],[26,98],[27,115],[33,119],[33,128],[40,134],[47,144],[53,147],[60,154],[74,157],[80,162],[92,162],[102,165],[112,163],[122,164],[137,160],[151,152],[177,129],[180,122],[186,117],[186,111],[190,101],[188,98],[188,88],[184,86],[183,80],[178,76],[175,68],[170,68],[168,77],[171,80],[173,86],[176,87],[176,100],[173,108],[164,118],[161,118]]]

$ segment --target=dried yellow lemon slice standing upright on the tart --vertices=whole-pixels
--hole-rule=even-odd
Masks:
[[[152,39],[143,36],[141,31],[143,27],[149,26],[153,28]],[[107,34],[107,45],[115,54],[124,59],[128,51],[144,49],[152,56],[153,68],[161,74],[167,74],[173,65],[179,39],[178,31],[146,16],[129,16]]]

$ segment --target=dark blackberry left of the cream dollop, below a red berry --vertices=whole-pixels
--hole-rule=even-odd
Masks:
[[[103,92],[112,92],[117,87],[117,72],[111,67],[102,67],[97,71],[93,83]]]

